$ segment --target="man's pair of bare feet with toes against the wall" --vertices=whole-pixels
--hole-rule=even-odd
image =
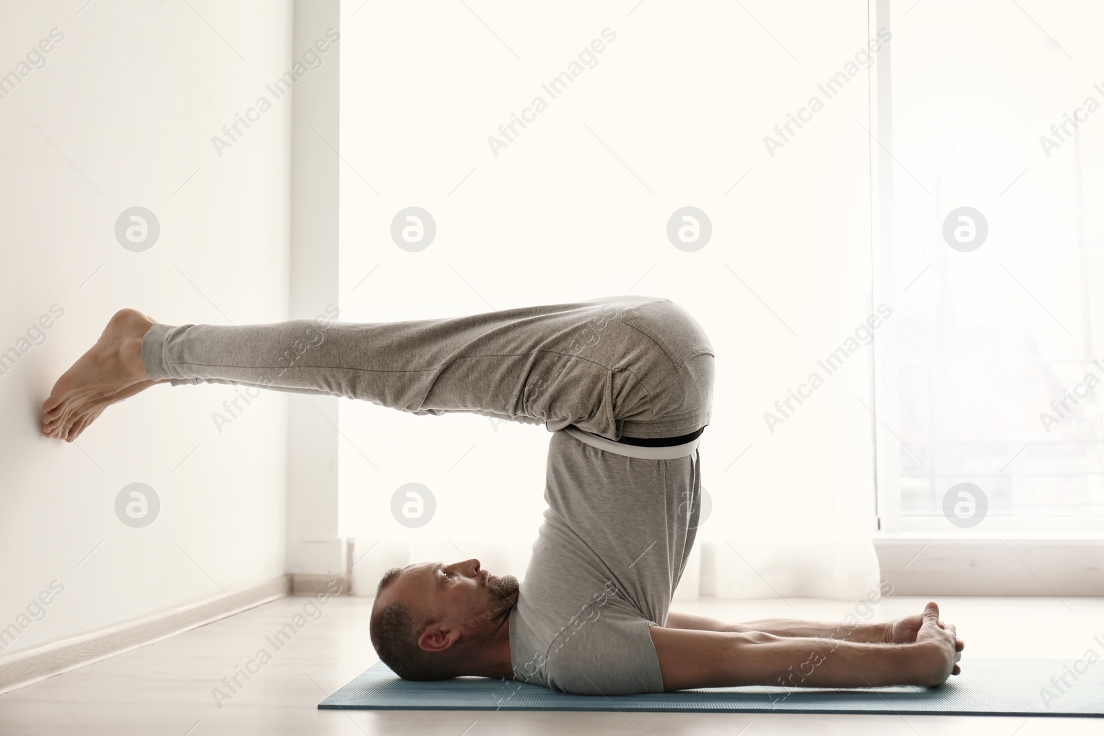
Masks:
[[[110,404],[153,385],[141,362],[141,340],[153,320],[120,309],[103,334],[66,371],[42,405],[42,434],[73,441]]]

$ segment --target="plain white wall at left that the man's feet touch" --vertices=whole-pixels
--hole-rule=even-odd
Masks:
[[[64,586],[9,652],[284,572],[286,395],[220,433],[233,387],[155,386],[72,445],[40,435],[36,404],[121,307],[287,317],[291,100],[265,84],[290,63],[291,4],[85,3],[0,2],[0,75],[64,34],[0,98],[0,351],[64,310],[0,375],[0,627]],[[261,95],[272,108],[219,156],[212,137]],[[140,253],[114,235],[135,205],[161,227]],[[144,529],[114,508],[135,481],[161,503]]]

